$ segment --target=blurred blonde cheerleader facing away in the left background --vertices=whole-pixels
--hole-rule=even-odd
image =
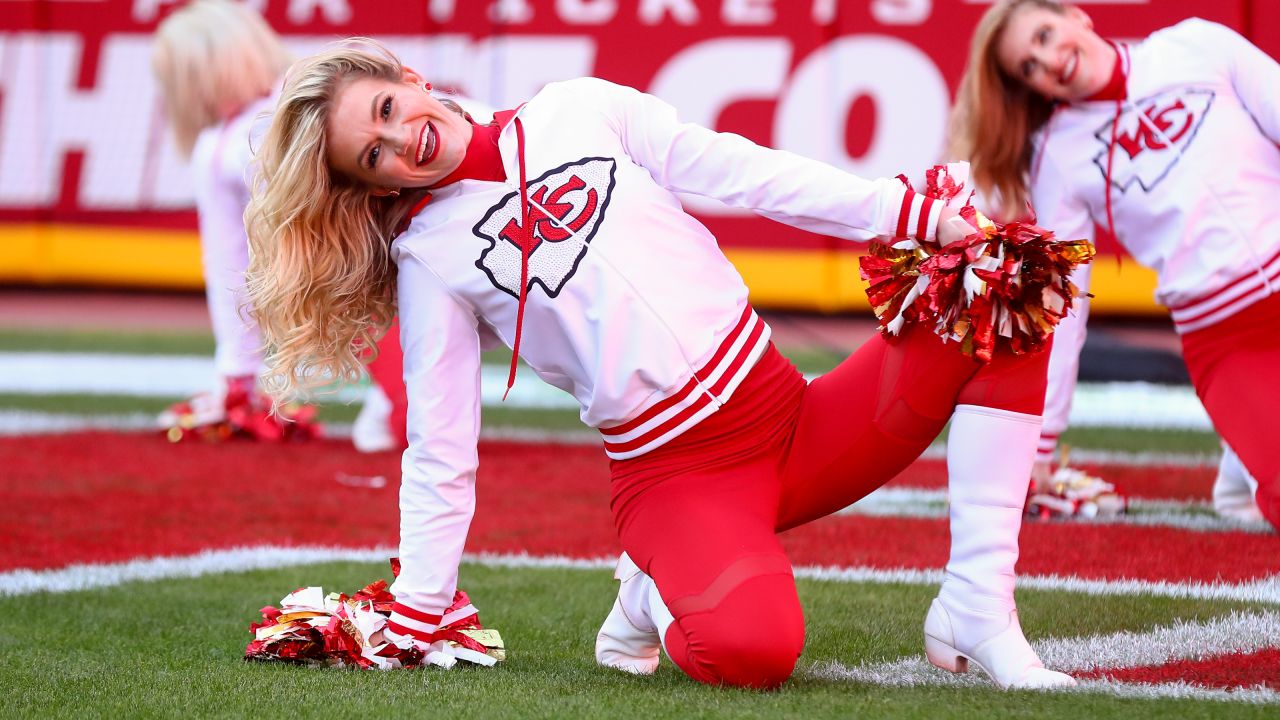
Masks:
[[[196,0],[156,28],[152,67],[174,141],[191,160],[200,219],[205,292],[212,320],[216,389],[182,402],[160,416],[164,428],[219,425],[260,438],[288,434],[257,391],[262,337],[244,292],[248,237],[251,132],[269,113],[292,61],[280,38],[243,3]],[[372,351],[371,351],[372,354]],[[362,451],[403,447],[404,387],[396,333],[378,345],[369,363],[374,379],[352,439]]]

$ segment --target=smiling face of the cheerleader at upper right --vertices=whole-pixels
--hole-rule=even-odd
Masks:
[[[1050,100],[1080,100],[1111,79],[1116,51],[1075,6],[1056,13],[1027,4],[1009,17],[996,59],[1009,77]]]

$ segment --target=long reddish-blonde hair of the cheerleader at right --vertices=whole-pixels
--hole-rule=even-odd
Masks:
[[[948,132],[948,155],[969,161],[978,190],[1000,200],[1006,219],[1025,211],[1032,136],[1053,114],[1053,102],[1009,77],[996,56],[1009,18],[1024,6],[1066,12],[1057,0],[998,0],[983,14],[969,45]]]

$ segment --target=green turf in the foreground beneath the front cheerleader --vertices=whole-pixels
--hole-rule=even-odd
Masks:
[[[302,584],[352,592],[385,565],[326,564],[0,598],[4,717],[1268,717],[1274,708],[974,688],[888,689],[823,666],[920,652],[933,588],[801,580],[808,644],[778,692],[713,691],[663,660],[636,678],[595,666],[616,584],[603,570],[466,565],[461,583],[509,659],[494,669],[340,671],[243,662],[248,624]],[[1020,592],[1033,639],[1204,620],[1243,603]],[[1053,618],[1052,626],[1046,623]],[[1036,620],[1038,619],[1038,620]]]

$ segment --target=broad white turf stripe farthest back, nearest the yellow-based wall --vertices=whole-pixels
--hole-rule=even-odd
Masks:
[[[198,355],[0,352],[0,392],[187,397],[207,391],[214,377],[214,360]],[[484,365],[481,402],[502,402],[506,380],[506,368]],[[338,392],[338,398],[357,400],[362,392],[347,387]],[[529,382],[513,387],[504,405],[576,409],[577,401],[545,383]],[[1080,383],[1069,421],[1073,427],[1212,429],[1189,387],[1153,383]]]

